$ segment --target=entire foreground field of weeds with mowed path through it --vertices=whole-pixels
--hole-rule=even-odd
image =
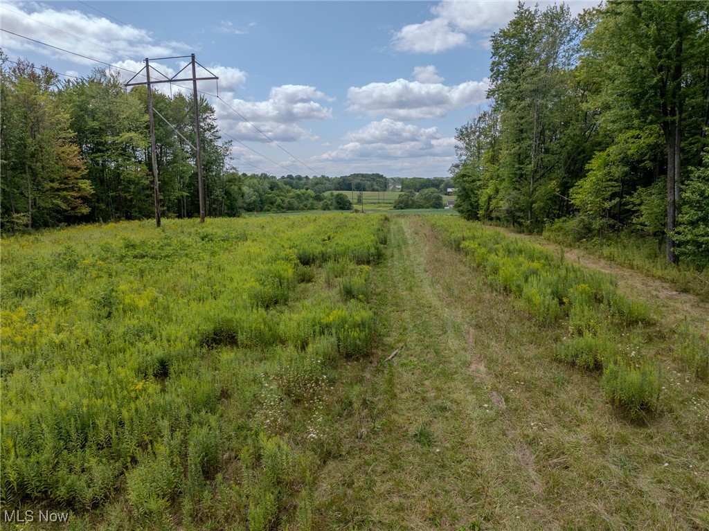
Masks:
[[[709,529],[706,301],[667,318],[611,269],[455,216],[5,237],[3,509],[75,530]]]

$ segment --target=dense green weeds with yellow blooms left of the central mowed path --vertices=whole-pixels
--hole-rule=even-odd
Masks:
[[[148,526],[295,518],[332,451],[333,369],[374,343],[369,267],[386,223],[173,220],[5,238],[4,507],[81,512],[121,492]],[[336,284],[323,276],[333,267]]]

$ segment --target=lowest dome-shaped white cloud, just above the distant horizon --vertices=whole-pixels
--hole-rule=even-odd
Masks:
[[[455,139],[442,138],[437,128],[420,128],[384,118],[345,135],[346,143],[314,157],[319,162],[355,160],[444,161],[452,157]]]

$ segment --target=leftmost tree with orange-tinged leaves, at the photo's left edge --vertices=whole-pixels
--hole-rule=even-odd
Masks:
[[[57,74],[23,61],[8,69],[0,60],[3,223],[34,228],[86,215],[93,189],[55,91]]]

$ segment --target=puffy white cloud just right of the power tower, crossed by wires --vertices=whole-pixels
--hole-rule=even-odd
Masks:
[[[307,85],[274,86],[269,92],[269,98],[264,101],[225,99],[233,111],[240,113],[277,141],[317,138],[298,123],[328,120],[333,117],[333,109],[323,106],[318,100],[332,99],[314,86]],[[231,135],[239,135],[238,138],[242,140],[269,142],[254,126],[236,115],[223,102],[216,101],[215,106],[225,131]]]

